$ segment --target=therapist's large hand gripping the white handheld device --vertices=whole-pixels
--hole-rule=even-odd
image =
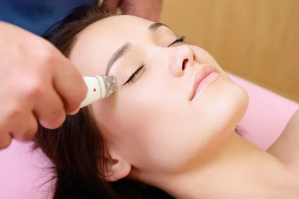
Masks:
[[[31,139],[38,121],[59,127],[87,94],[77,69],[50,42],[0,21],[0,149]]]

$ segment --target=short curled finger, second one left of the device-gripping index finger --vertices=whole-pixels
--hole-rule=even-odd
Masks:
[[[17,127],[13,129],[13,137],[18,141],[31,140],[37,132],[37,120],[33,113],[15,120]]]

